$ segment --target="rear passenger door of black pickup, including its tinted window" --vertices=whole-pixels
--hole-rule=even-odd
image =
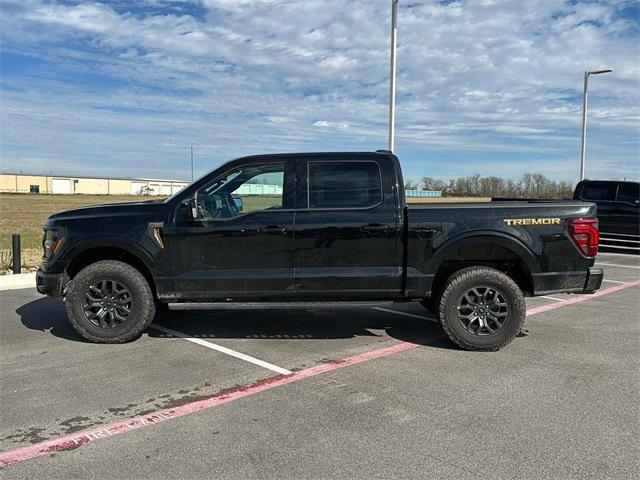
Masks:
[[[400,295],[400,220],[394,173],[383,159],[338,156],[297,162],[297,297]]]

